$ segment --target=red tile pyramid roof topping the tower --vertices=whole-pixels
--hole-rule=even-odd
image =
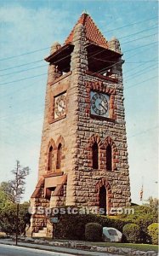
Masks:
[[[86,38],[89,42],[98,44],[104,48],[108,48],[108,44],[102,33],[99,31],[98,27],[94,24],[94,20],[88,14],[82,14],[77,24],[82,24],[85,27]],[[76,24],[76,26],[77,26]],[[65,44],[69,44],[72,42],[73,33],[75,30],[75,26],[73,27],[70,35],[65,40]]]

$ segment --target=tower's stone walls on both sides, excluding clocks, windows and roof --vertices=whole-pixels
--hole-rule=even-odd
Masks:
[[[54,65],[48,67],[43,137],[39,160],[39,177],[47,174],[48,148],[54,148],[54,161],[60,137],[63,141],[63,159],[60,172],[67,173],[66,194],[51,198],[51,205],[99,207],[99,188],[107,189],[107,208],[129,206],[128,148],[123,107],[122,61],[114,65],[118,82],[106,81],[88,75],[86,37],[84,27],[74,30],[74,49],[71,54],[71,73],[60,78]],[[113,45],[113,44],[112,44]],[[59,49],[54,44],[52,53]],[[59,79],[58,79],[59,78]],[[58,80],[57,80],[58,79]],[[66,90],[66,117],[54,121],[54,96]],[[111,119],[93,119],[90,116],[90,90],[110,95]],[[113,119],[116,119],[113,121]],[[99,170],[93,170],[91,143],[99,145]],[[105,171],[105,147],[111,143],[113,170]],[[56,172],[56,170],[53,170]]]

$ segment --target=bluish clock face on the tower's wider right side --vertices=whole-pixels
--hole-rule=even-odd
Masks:
[[[109,96],[104,93],[91,91],[91,113],[109,117]]]

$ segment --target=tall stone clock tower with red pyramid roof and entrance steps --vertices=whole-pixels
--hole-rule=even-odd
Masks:
[[[48,61],[43,135],[34,207],[130,206],[123,106],[122,52],[82,14]],[[31,216],[31,236],[48,236],[48,220]]]

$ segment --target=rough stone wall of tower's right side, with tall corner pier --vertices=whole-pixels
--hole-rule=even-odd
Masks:
[[[76,81],[78,87],[78,112],[77,112],[77,154],[76,154],[76,169],[77,179],[75,196],[77,206],[98,207],[99,206],[99,191],[96,189],[97,184],[103,183],[105,187],[110,186],[107,193],[107,207],[126,207],[129,206],[130,184],[128,177],[128,149],[127,138],[124,120],[123,107],[123,86],[122,86],[122,61],[116,67],[113,67],[113,72],[116,72],[118,83],[108,82],[102,79],[94,78],[93,76],[83,75],[87,70],[87,52],[83,45],[85,43],[84,30],[82,25],[78,25],[74,33],[75,49],[73,52],[73,60],[71,64],[74,68],[72,73],[73,80]],[[90,117],[90,100],[89,91],[87,90],[88,82],[97,84],[95,90],[99,90],[99,85],[102,81],[101,91],[115,90],[112,98],[112,110],[116,116],[116,122],[111,122],[108,119],[92,119]],[[74,82],[75,83],[75,82]],[[116,168],[112,172],[105,170],[93,170],[90,159],[88,157],[88,143],[91,136],[98,136],[98,143],[105,144],[107,137],[110,137],[116,145],[116,151],[113,150],[113,163]],[[68,184],[69,188],[70,184]]]

